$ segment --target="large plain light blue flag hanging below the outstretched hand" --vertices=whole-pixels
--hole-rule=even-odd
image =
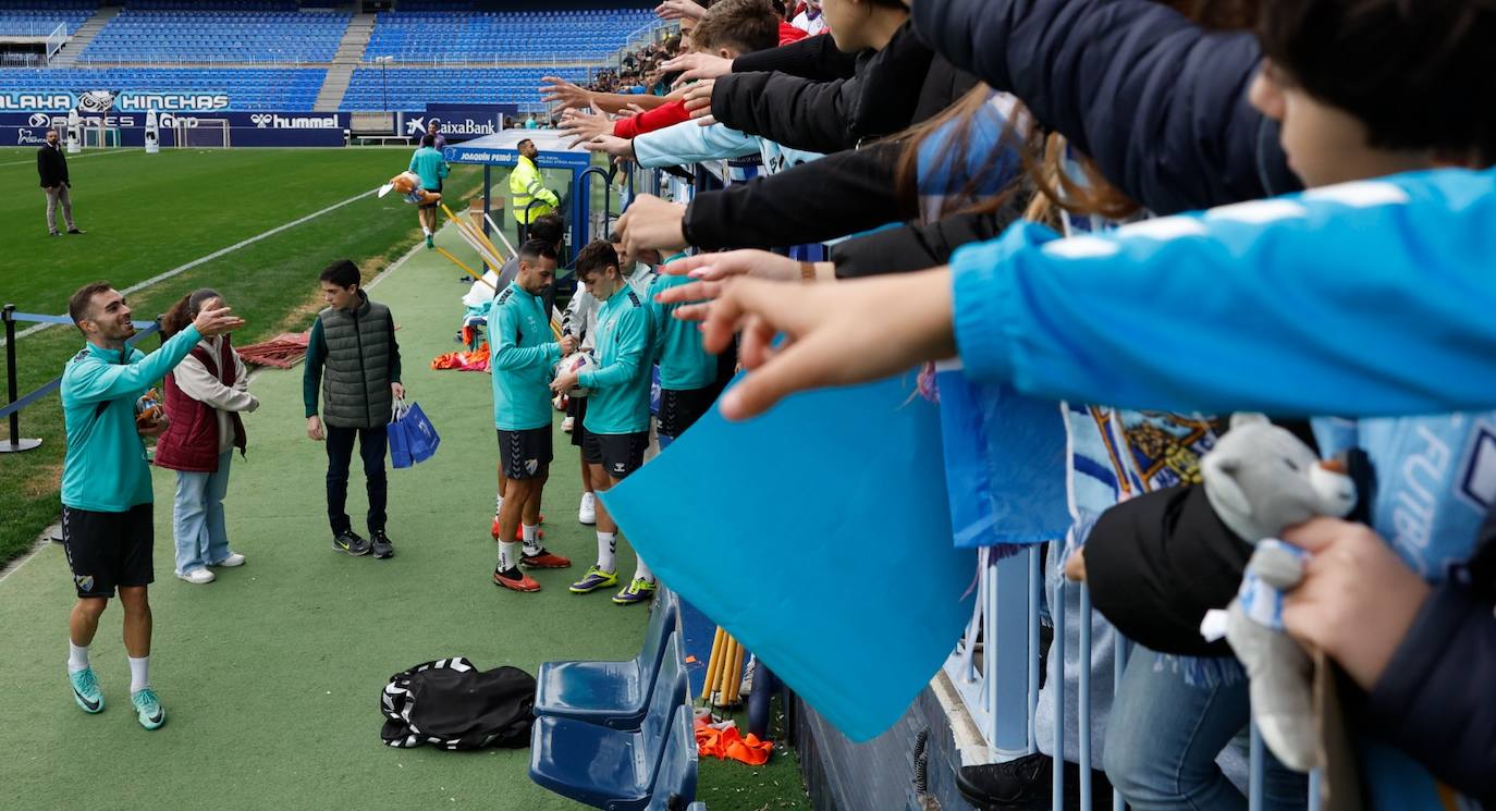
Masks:
[[[712,408],[600,494],[660,579],[853,741],[898,721],[971,618],[951,545],[939,413],[914,373]]]

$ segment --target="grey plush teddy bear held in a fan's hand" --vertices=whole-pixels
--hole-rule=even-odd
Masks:
[[[1231,416],[1231,429],[1200,462],[1216,516],[1255,546],[1237,597],[1225,610],[1225,639],[1251,678],[1252,718],[1263,742],[1290,769],[1318,766],[1319,747],[1309,654],[1284,633],[1282,594],[1303,576],[1305,552],[1278,540],[1315,516],[1345,518],[1355,483],[1299,437],[1263,414]],[[1219,613],[1203,630],[1219,627]],[[1218,633],[1218,631],[1216,631]]]

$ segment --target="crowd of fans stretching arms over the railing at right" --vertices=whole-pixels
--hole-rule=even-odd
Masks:
[[[1493,349],[1478,233],[1496,211],[1496,118],[1471,103],[1496,90],[1496,6],[667,0],[660,13],[681,24],[673,58],[651,46],[625,73],[543,91],[564,130],[618,160],[758,160],[752,180],[688,205],[637,198],[618,226],[634,256],[699,251],[666,265],[693,281],[661,301],[749,370],[724,414],[956,356],[978,398],[1070,404],[1068,464],[1028,471],[1065,479],[1073,500],[1047,554],[1049,610],[1074,613],[1076,634],[1076,590],[1053,605],[1053,587],[1086,578],[1100,613],[1147,640],[1113,694],[1097,619],[1098,781],[1134,808],[1245,808],[1216,757],[1260,673],[1198,627],[1237,597],[1264,539],[1224,519],[1201,459],[1233,411],[1267,411],[1363,476],[1348,519],[1282,533],[1312,560],[1264,621],[1343,669],[1357,729],[1496,796],[1496,714],[1475,687],[1496,673],[1483,528],[1496,494],[1472,485],[1480,425],[1496,420],[1493,389],[1472,383]],[[1210,211],[1183,214],[1197,209]],[[829,241],[824,262],[785,256]],[[788,341],[770,352],[776,335]],[[1076,696],[1077,640],[1050,657],[1047,690]],[[1041,754],[963,777],[986,807],[1041,802],[1052,759],[1076,778],[1077,753],[1046,748],[1047,706]],[[1306,804],[1294,760],[1266,765],[1273,807]]]

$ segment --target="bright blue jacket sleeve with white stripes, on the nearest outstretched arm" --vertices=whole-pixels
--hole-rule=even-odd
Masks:
[[[1496,171],[1445,169],[951,260],[968,376],[1170,411],[1496,407]]]

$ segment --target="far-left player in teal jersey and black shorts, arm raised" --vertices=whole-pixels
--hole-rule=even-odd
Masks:
[[[160,379],[203,338],[242,325],[227,308],[202,310],[162,349],[145,355],[126,341],[135,335],[130,307],[108,281],[79,287],[67,314],[88,343],[63,370],[63,548],[78,602],[69,615],[67,679],[84,712],[103,711],[103,688],[88,660],[115,588],[124,606],[124,651],[130,660],[130,703],[145,729],[166,723],[151,688],[153,564],[151,468],[144,437],[157,437],[169,420],[147,401]],[[144,408],[142,408],[144,406]]]

